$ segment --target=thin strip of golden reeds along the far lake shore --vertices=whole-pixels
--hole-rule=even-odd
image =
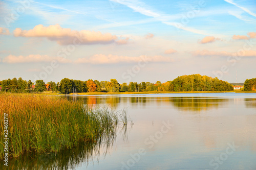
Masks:
[[[241,91],[241,90],[232,90],[232,91],[142,91],[142,92],[83,92],[76,93],[79,95],[104,95],[104,94],[172,94],[172,93],[228,93],[228,92],[236,92],[236,93],[256,93],[256,91]],[[4,93],[0,93],[4,94]],[[68,95],[73,96],[73,93],[70,94],[61,94],[57,92],[43,92],[43,93],[6,93],[6,94],[15,94],[15,95]]]

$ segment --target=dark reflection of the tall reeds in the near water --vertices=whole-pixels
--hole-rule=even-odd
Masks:
[[[8,161],[8,169],[75,169],[93,160],[99,162],[100,155],[105,156],[112,148],[115,136],[101,138],[97,142],[79,142],[73,149],[57,153],[26,153],[19,158]],[[7,169],[3,163],[0,169]]]

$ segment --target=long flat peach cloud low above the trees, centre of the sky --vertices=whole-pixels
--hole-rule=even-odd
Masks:
[[[127,57],[117,55],[103,55],[96,54],[90,58],[79,58],[75,63],[90,63],[90,64],[111,64],[111,63],[138,63],[139,61],[146,60],[148,62],[173,62],[170,57],[163,56],[139,56],[139,57]]]

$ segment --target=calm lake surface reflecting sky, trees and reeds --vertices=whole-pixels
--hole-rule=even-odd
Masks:
[[[57,154],[25,155],[18,167],[53,169],[256,169],[256,93],[86,95],[92,107],[127,108],[115,139]]]

